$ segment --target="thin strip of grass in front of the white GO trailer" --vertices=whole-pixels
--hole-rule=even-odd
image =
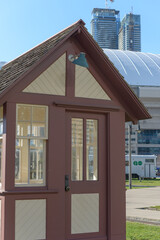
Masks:
[[[129,180],[126,180],[126,185],[129,185]],[[160,178],[158,178],[158,179],[144,179],[144,180],[141,180],[141,181],[138,180],[138,179],[132,179],[132,185],[156,187],[156,186],[160,186]]]

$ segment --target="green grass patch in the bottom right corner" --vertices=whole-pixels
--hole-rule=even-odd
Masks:
[[[126,240],[159,240],[160,226],[127,222]]]

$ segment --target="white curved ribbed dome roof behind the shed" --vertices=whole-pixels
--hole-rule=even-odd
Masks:
[[[129,85],[160,86],[160,54],[103,50]]]

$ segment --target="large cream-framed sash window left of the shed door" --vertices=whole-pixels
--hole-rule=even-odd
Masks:
[[[48,108],[17,105],[15,184],[45,185]]]

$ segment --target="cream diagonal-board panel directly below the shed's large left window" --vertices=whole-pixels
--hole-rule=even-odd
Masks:
[[[15,240],[46,239],[46,200],[16,200]]]

